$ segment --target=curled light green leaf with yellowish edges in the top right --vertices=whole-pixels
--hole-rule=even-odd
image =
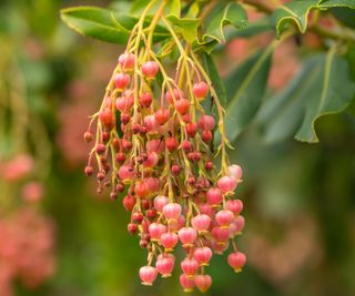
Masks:
[[[354,0],[293,0],[280,8],[272,14],[277,35],[285,30],[290,23],[296,24],[300,32],[307,29],[308,13],[312,9],[327,10],[335,7],[355,8]]]

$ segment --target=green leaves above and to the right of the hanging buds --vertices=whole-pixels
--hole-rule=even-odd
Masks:
[[[62,10],[61,17],[69,27],[83,35],[124,44],[139,16],[149,3],[150,1],[145,0],[118,1],[112,6],[113,10],[94,7],[70,8]],[[308,14],[312,10],[318,10],[321,13],[329,10],[345,25],[355,27],[352,19],[355,1],[293,0],[280,6],[273,13],[251,23],[247,22],[245,8],[232,1],[215,2],[212,9],[201,19],[201,11],[210,4],[209,1],[186,3],[174,0],[164,8],[164,13],[179,38],[191,43],[203,61],[217,95],[226,109],[226,133],[231,141],[233,142],[254,121],[261,109],[261,121],[267,142],[286,139],[294,133],[296,133],[295,139],[300,141],[316,142],[317,136],[313,126],[316,119],[324,114],[343,111],[354,96],[352,86],[339,86],[342,81],[348,85],[353,83],[346,74],[346,69],[349,67],[346,65],[343,58],[333,54],[334,60],[332,59],[332,62],[325,62],[328,61],[324,58],[325,54],[307,59],[304,62],[303,72],[294,78],[282,93],[273,95],[271,100],[263,104],[270,68],[272,67],[272,52],[281,42],[272,42],[264,52],[250,57],[232,70],[224,81],[226,91],[224,91],[223,82],[210,54],[216,49],[221,50],[223,44],[233,38],[251,38],[273,28],[277,37],[286,31],[290,24],[295,24],[300,32],[305,33],[310,27]],[[148,20],[154,16],[158,8],[159,1],[153,3]],[[125,14],[128,11],[130,14]],[[144,23],[144,28],[148,25],[149,21]],[[312,29],[318,30],[314,25],[312,23]],[[331,38],[333,37],[332,32],[325,33],[329,34]],[[353,35],[354,32],[347,32],[345,40],[352,40]],[[335,37],[341,38],[336,34]],[[159,41],[164,41],[158,52],[159,57],[161,59],[173,59],[173,49],[169,43],[172,41],[172,37],[162,21],[159,22],[158,30],[154,33],[154,42]],[[320,63],[317,68],[314,67],[315,61]],[[333,70],[332,73],[327,72],[328,69]],[[334,71],[338,71],[338,75],[334,75]],[[311,73],[314,74],[311,75]],[[331,82],[326,84],[325,81],[328,78]],[[338,88],[343,91],[335,96],[333,92]],[[303,91],[297,92],[296,89]],[[287,108],[281,109],[282,105]],[[305,111],[302,111],[303,109]],[[275,115],[276,112],[277,116]],[[282,124],[280,124],[281,121]],[[297,131],[295,131],[296,127],[298,127]]]

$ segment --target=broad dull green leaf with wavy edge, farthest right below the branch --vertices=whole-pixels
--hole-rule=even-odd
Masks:
[[[345,59],[333,50],[307,59],[288,86],[263,105],[258,122],[265,141],[295,135],[298,141],[318,142],[316,120],[344,111],[354,94],[355,83]]]

